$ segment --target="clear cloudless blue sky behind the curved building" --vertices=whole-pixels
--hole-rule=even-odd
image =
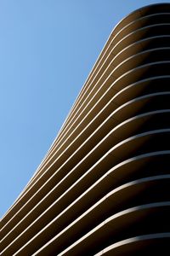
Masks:
[[[158,1],[0,0],[0,217],[54,141],[112,28],[150,3]]]

